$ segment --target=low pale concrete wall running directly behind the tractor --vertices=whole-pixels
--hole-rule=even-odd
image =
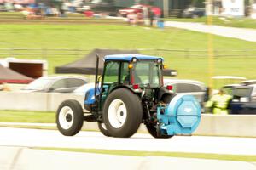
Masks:
[[[14,100],[15,99],[15,100]],[[75,99],[83,107],[84,96],[79,94],[1,92],[0,110],[56,111],[62,101]],[[97,130],[96,123],[86,122],[86,129]],[[147,133],[142,125],[140,133]],[[201,116],[196,135],[256,137],[256,115]]]

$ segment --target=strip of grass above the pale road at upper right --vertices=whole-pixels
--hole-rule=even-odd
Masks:
[[[181,18],[181,19],[165,19],[165,20],[181,21],[181,22],[201,22],[201,23],[207,24],[207,17],[201,17],[196,19]],[[212,17],[212,25],[256,29],[256,20],[249,19],[249,18]]]

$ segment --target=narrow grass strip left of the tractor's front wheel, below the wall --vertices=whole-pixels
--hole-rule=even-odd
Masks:
[[[54,112],[44,111],[0,111],[0,122],[55,122]]]

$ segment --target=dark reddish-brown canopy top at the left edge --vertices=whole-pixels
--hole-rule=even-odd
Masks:
[[[3,67],[0,65],[0,84],[3,82],[7,83],[29,83],[32,82],[31,77],[26,77],[16,71],[13,71],[9,68]]]

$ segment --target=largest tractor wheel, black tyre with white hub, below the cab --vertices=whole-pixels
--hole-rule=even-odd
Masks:
[[[108,95],[103,108],[103,122],[113,137],[129,138],[143,119],[142,101],[129,89],[119,88]]]

